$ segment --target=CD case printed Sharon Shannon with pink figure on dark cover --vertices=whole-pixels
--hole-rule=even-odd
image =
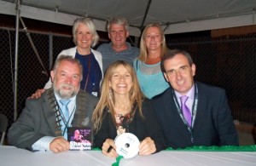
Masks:
[[[88,151],[92,149],[93,134],[90,127],[67,128],[67,140],[70,143],[69,150]]]

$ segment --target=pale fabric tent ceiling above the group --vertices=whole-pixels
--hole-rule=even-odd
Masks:
[[[15,3],[0,0],[0,13],[15,14]],[[134,36],[140,35],[145,14],[143,25],[160,22],[166,33],[178,33],[255,25],[255,9],[256,0],[20,0],[23,17],[72,25],[89,16],[99,31],[109,18],[124,16]]]

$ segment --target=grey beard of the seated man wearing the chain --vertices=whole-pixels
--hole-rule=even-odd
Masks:
[[[61,99],[71,99],[79,92],[79,88],[73,86],[73,84],[61,83],[59,87],[53,83],[53,88],[55,94],[57,94]]]

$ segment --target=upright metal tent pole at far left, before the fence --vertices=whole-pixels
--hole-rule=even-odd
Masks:
[[[19,46],[19,18],[20,18],[20,0],[16,3],[16,27],[15,27],[15,94],[14,94],[14,121],[18,117],[17,112],[17,78],[18,78],[18,46]]]

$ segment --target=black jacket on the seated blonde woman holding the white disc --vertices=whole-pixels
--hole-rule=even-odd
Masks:
[[[154,140],[156,152],[160,152],[166,148],[165,140],[162,130],[160,129],[160,124],[155,116],[151,101],[148,99],[143,100],[143,117],[145,118],[143,119],[137,110],[131,123],[129,123],[129,133],[136,135],[140,141],[144,140],[146,137],[150,137]],[[116,126],[113,123],[108,109],[105,109],[102,128],[94,137],[95,147],[102,148],[102,144],[106,139],[114,140],[116,136]]]

